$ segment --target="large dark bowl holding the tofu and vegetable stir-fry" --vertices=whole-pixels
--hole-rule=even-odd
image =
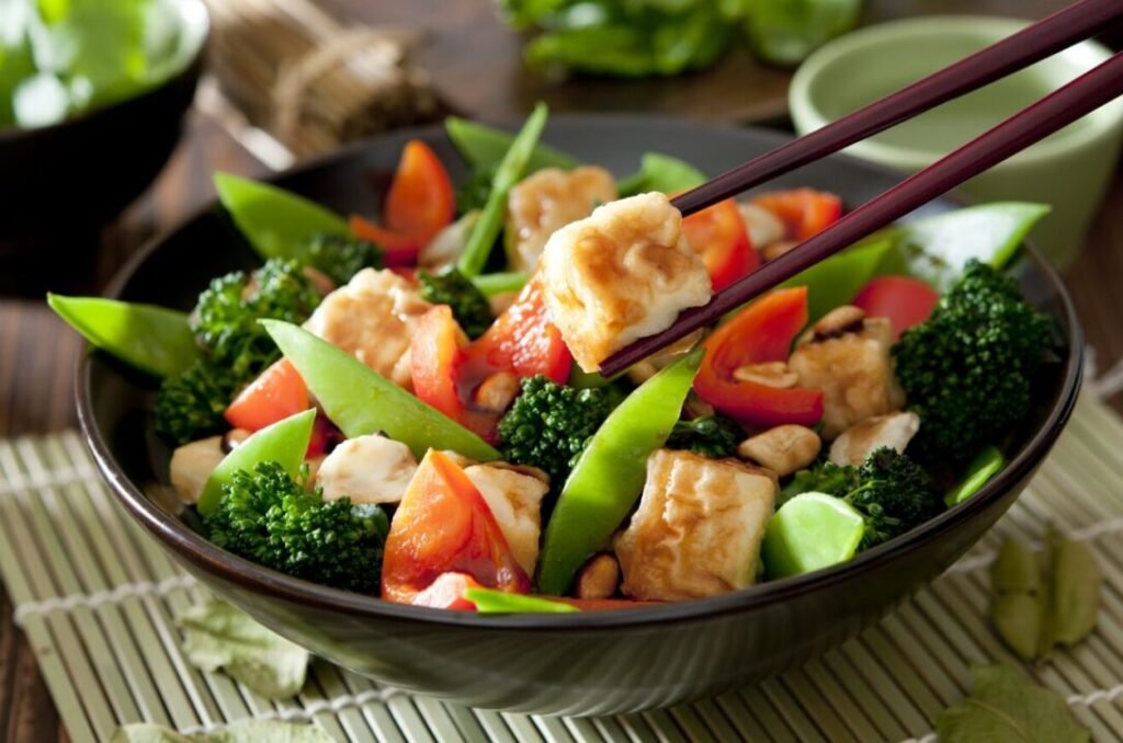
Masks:
[[[339,211],[373,211],[380,184],[413,137],[432,144],[454,177],[465,175],[440,129],[429,128],[312,164],[277,183]],[[632,171],[648,150],[716,173],[783,141],[765,131],[628,118],[562,118],[546,139],[618,174]],[[833,157],[774,185],[829,189],[857,204],[895,180]],[[923,212],[956,205],[938,200]],[[112,293],[189,308],[210,277],[256,263],[216,209],[152,245]],[[1072,410],[1081,348],[1057,274],[1032,249],[1015,270],[1026,296],[1054,319],[1066,350],[1050,365],[1038,409],[999,476],[966,504],[847,565],[651,608],[478,616],[387,604],[259,568],[214,548],[145,494],[148,484],[165,477],[167,458],[146,428],[150,382],[92,354],[80,368],[77,404],[98,467],[129,513],[191,574],[266,626],[340,666],[427,695],[510,710],[623,713],[751,684],[837,645],[943,571],[1013,503]]]

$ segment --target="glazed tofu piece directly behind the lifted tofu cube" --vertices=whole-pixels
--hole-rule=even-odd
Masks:
[[[512,270],[538,267],[546,241],[617,198],[617,182],[603,167],[548,167],[511,189],[506,200],[506,257]]]

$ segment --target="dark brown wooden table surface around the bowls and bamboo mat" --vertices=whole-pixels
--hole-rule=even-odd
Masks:
[[[731,120],[783,114],[787,75],[755,67],[740,55],[725,61],[711,76],[665,84],[555,83],[521,70],[518,39],[495,21],[490,0],[331,0],[325,4],[368,22],[423,26],[430,31],[430,46],[422,62],[437,73],[444,94],[456,108],[486,118],[517,118],[538,98],[558,110],[623,109]],[[886,18],[941,11],[1037,17],[1061,4],[1059,0],[877,0],[870,2],[867,15]],[[462,64],[466,49],[480,67]],[[491,74],[481,77],[472,70],[490,70]],[[247,175],[265,172],[222,129],[192,113],[183,141],[153,189],[102,233],[98,245],[89,246],[95,263],[92,273],[70,282],[66,288],[98,291],[146,238],[213,198],[209,175],[219,168]],[[3,270],[0,267],[0,274]],[[1123,293],[1116,286],[1121,277],[1123,172],[1116,174],[1085,250],[1066,272],[1101,368],[1123,358]],[[12,283],[2,282],[4,286]],[[71,384],[82,343],[40,297],[0,296],[0,437],[75,425]],[[1123,411],[1123,400],[1112,402]],[[0,590],[0,741],[65,740],[35,659],[11,614],[7,593]]]

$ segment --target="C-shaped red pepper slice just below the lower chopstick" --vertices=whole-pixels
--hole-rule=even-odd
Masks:
[[[749,425],[814,425],[823,416],[821,389],[779,389],[733,378],[738,367],[786,360],[792,340],[806,323],[806,287],[760,297],[705,340],[705,358],[694,391],[722,413]]]

